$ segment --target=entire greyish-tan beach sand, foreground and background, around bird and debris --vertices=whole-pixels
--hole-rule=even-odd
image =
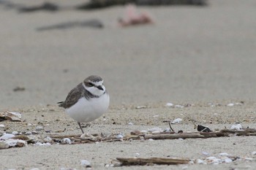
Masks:
[[[73,5],[80,1],[56,2]],[[191,120],[211,129],[236,122],[256,128],[256,2],[215,0],[209,1],[208,7],[139,9],[150,12],[155,24],[118,28],[116,20],[123,16],[124,7],[18,13],[0,5],[0,111],[21,112],[26,120],[1,122],[7,131],[33,131],[35,126],[26,123],[41,122],[51,131],[67,128],[62,134],[80,134],[78,125],[56,102],[64,100],[68,91],[90,74],[104,77],[111,96],[108,114],[86,129],[90,133],[167,128],[162,121],[176,117],[183,119],[173,126],[176,130],[194,131]],[[102,20],[105,28],[37,31],[42,26],[91,18]],[[15,92],[16,87],[25,90]],[[169,101],[194,105],[167,108]],[[244,104],[226,106],[240,101]],[[210,103],[221,106],[211,107]],[[143,105],[147,108],[135,109]],[[134,125],[127,125],[130,122]],[[29,145],[0,150],[0,169],[82,169],[82,159],[89,160],[93,169],[255,169],[255,161],[216,166],[104,166],[117,157],[134,157],[136,153],[141,158],[169,155],[196,159],[207,157],[202,152],[213,156],[227,152],[255,158],[253,151],[255,136]]]

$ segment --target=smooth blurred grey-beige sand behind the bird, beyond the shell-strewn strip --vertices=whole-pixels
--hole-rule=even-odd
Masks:
[[[72,7],[82,1],[52,2]],[[105,79],[113,105],[255,100],[256,2],[208,4],[139,7],[154,25],[127,28],[117,26],[122,6],[20,13],[0,5],[1,107],[56,104],[90,74]],[[37,31],[89,19],[105,27]]]

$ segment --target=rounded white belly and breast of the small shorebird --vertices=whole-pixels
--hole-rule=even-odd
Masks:
[[[109,106],[110,98],[107,93],[99,98],[80,98],[76,104],[66,109],[67,115],[78,123],[87,123],[103,115]]]

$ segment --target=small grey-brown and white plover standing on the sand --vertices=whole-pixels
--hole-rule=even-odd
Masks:
[[[59,102],[67,115],[80,123],[89,123],[103,115],[109,106],[110,97],[103,85],[102,77],[91,75],[73,88],[65,101]],[[84,134],[84,133],[83,133]]]

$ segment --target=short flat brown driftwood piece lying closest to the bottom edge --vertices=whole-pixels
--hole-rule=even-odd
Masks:
[[[178,165],[189,163],[189,159],[178,159],[178,158],[116,158],[117,161],[121,162],[120,166],[135,166],[135,165]]]

